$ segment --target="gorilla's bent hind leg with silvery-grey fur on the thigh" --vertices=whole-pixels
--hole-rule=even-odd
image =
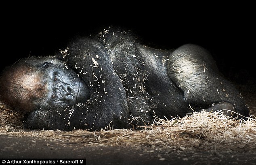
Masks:
[[[223,78],[212,56],[204,48],[187,44],[174,50],[169,57],[168,74],[183,91],[187,103],[196,109],[225,101],[233,105],[236,112],[248,117],[249,110],[240,93]],[[218,108],[233,110],[229,104],[216,106],[214,111]]]

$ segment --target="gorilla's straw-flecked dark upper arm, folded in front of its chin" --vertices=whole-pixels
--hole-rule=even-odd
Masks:
[[[63,60],[82,77],[90,92],[86,104],[78,105],[79,112],[71,117],[87,124],[85,128],[99,129],[109,124],[127,128],[125,91],[104,45],[94,39],[78,39],[69,46]]]

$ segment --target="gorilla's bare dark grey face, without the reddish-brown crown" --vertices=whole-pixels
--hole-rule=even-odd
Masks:
[[[43,74],[40,81],[46,88],[45,100],[46,105],[51,108],[75,105],[85,103],[89,97],[88,87],[78,75],[63,62],[52,63],[44,62],[41,64]],[[39,106],[47,108],[45,105]]]

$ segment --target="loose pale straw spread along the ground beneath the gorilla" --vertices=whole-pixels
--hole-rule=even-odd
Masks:
[[[11,115],[12,114],[12,115]],[[155,119],[142,130],[24,130],[22,116],[0,106],[0,134],[34,136],[61,143],[106,146],[151,146],[172,150],[222,150],[256,148],[256,120],[233,120],[222,113],[200,112],[171,121]],[[15,122],[16,120],[16,122]]]

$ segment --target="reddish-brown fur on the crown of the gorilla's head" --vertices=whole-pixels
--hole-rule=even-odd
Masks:
[[[12,66],[1,76],[0,100],[19,111],[32,111],[47,92],[42,80],[42,74],[33,66]]]

